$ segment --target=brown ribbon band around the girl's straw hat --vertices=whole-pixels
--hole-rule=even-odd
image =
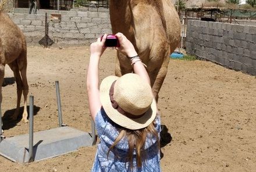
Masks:
[[[121,107],[119,107],[118,103],[113,98],[115,83],[116,83],[116,80],[112,83],[111,88],[109,89],[109,97],[111,100],[112,107],[114,109],[116,109],[120,114],[125,115],[128,118],[136,119],[136,118],[140,118],[141,116],[143,116],[145,113],[142,115],[133,115],[133,114],[130,114],[129,112],[124,111]]]

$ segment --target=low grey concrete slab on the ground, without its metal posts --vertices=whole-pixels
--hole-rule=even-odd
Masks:
[[[93,145],[90,134],[70,127],[34,133],[33,159],[44,160]],[[0,155],[18,163],[29,162],[29,134],[4,139]]]

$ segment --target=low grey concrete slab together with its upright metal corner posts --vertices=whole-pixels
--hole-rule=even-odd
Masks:
[[[63,124],[58,81],[55,82],[55,86],[59,127],[36,133],[33,132],[34,97],[30,96],[29,134],[5,138],[2,133],[2,118],[0,118],[0,155],[13,162],[30,163],[53,158],[76,151],[81,147],[95,144],[95,126],[93,120],[91,120],[91,133],[76,130]]]

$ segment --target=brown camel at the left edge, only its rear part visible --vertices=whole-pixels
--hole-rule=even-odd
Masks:
[[[24,96],[24,122],[27,122],[27,46],[26,39],[19,27],[0,10],[0,110],[2,103],[2,82],[5,75],[5,65],[12,69],[17,84],[17,107],[11,119],[16,120],[19,115],[22,92]],[[1,117],[1,116],[0,116]]]

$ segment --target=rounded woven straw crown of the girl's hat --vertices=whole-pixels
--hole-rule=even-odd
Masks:
[[[144,114],[150,108],[153,98],[151,86],[137,74],[126,74],[116,80],[113,99],[130,114]]]

